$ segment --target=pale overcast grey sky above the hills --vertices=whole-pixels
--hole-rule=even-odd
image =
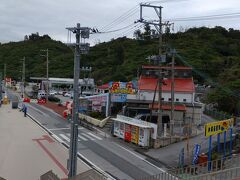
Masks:
[[[134,24],[134,21],[139,19],[139,3],[143,2],[141,0],[0,1],[0,42],[2,43],[21,41],[24,35],[33,32],[39,32],[40,35],[48,34],[53,39],[66,42],[67,31],[65,27],[74,26],[77,22],[80,22],[81,26],[94,27],[102,31],[111,31],[127,26],[114,33],[92,35],[89,41],[94,44],[120,36],[131,37],[134,30],[141,26],[141,24]],[[162,0],[151,2],[154,5],[164,7],[163,19],[175,21],[175,31],[178,31],[180,27],[214,27],[216,25],[240,29],[240,0]],[[176,21],[177,18],[183,17],[229,13],[239,14],[234,18]],[[116,20],[116,18],[118,19]],[[144,18],[157,19],[157,16],[152,9],[147,8],[144,10]]]

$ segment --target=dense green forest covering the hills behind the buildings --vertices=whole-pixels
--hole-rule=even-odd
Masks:
[[[118,38],[100,43],[82,55],[81,66],[92,66],[91,76],[97,82],[128,81],[137,77],[149,55],[158,53],[158,40],[150,28],[135,32],[136,39]],[[207,101],[217,102],[223,111],[238,113],[240,109],[240,31],[234,29],[191,28],[185,32],[166,33],[166,46],[176,48],[178,65],[193,67],[194,78],[199,83],[215,87]],[[7,63],[7,75],[21,78],[22,61],[26,57],[26,76],[46,74],[46,58],[41,49],[49,49],[50,77],[73,77],[73,50],[48,35],[32,34],[24,41],[0,45],[0,71]],[[84,76],[81,73],[81,76]]]

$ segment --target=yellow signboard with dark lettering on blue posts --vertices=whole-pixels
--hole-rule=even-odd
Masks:
[[[231,118],[223,121],[207,123],[205,124],[205,136],[209,137],[227,131],[233,125],[233,122],[234,119]]]

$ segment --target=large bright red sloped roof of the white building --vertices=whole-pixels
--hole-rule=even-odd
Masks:
[[[141,77],[138,81],[139,90],[155,91],[158,79]],[[195,92],[195,86],[192,78],[176,78],[174,80],[174,91],[175,92]],[[157,88],[158,90],[158,88]],[[164,79],[162,84],[162,91],[171,91],[171,79]]]

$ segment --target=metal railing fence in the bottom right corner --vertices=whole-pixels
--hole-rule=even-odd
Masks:
[[[208,168],[210,166],[210,169]],[[139,180],[240,180],[240,155],[176,168]]]

